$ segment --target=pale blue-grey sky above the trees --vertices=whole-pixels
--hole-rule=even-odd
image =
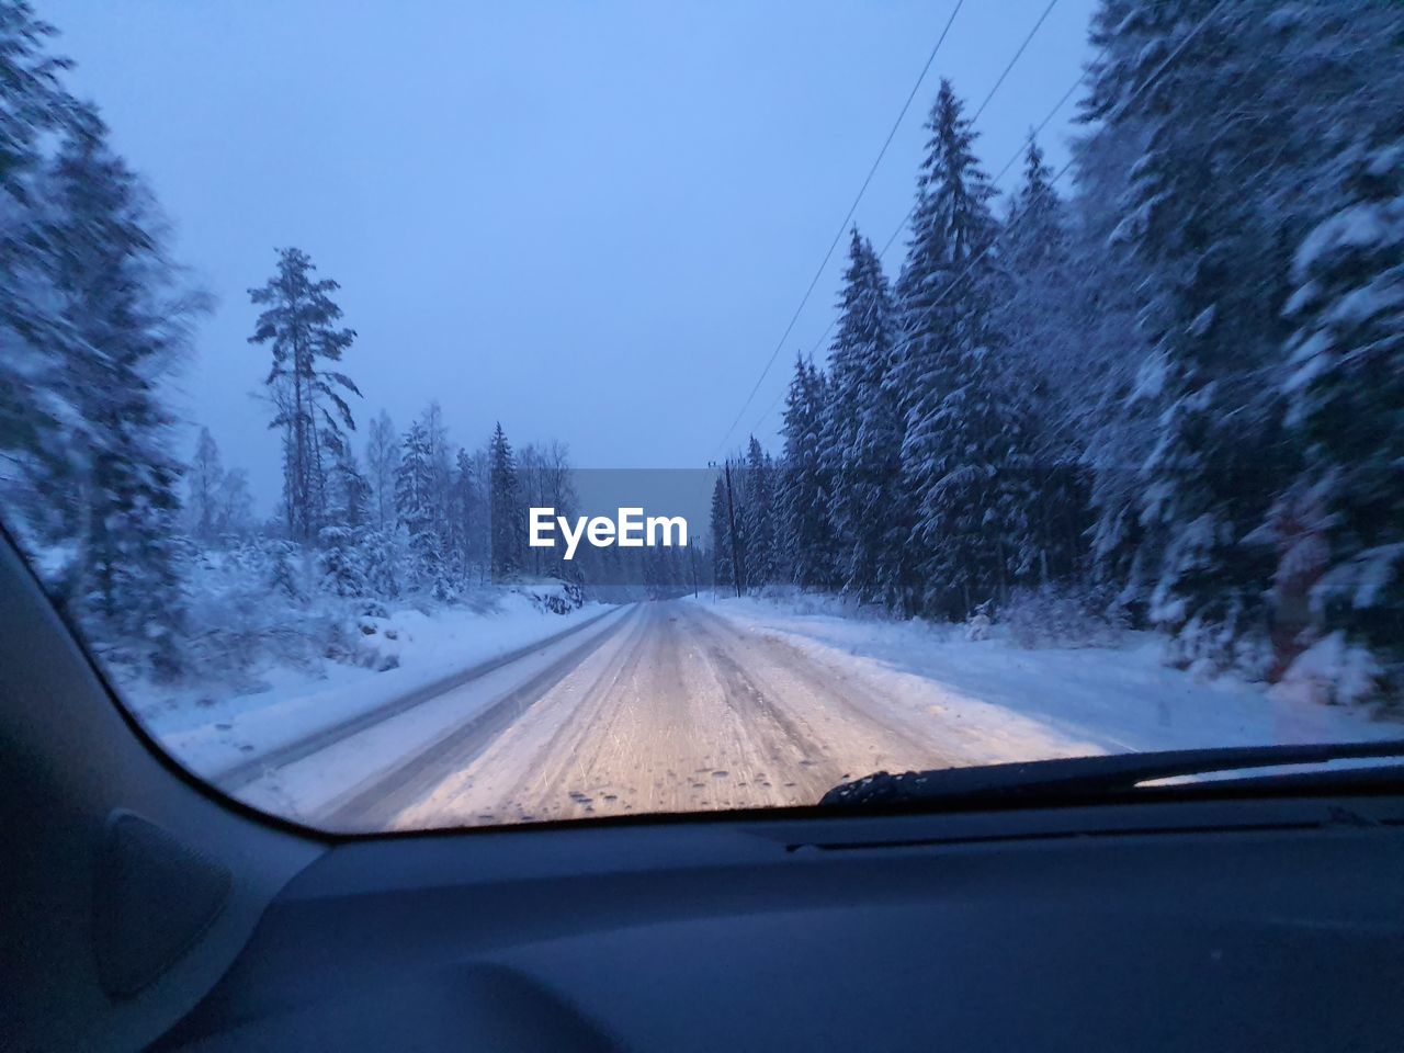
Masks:
[[[181,411],[249,469],[247,289],[298,246],[341,282],[357,446],[437,399],[480,445],[560,438],[588,468],[698,468],[755,383],[955,0],[39,0],[117,147],[218,299]],[[966,0],[856,212],[911,206],[941,76],[984,100],[1047,0]],[[1059,0],[980,118],[990,173],[1081,72],[1094,0]],[[1067,156],[1075,104],[1043,135]],[[1012,185],[1019,166],[1001,181]],[[795,352],[828,326],[840,244],[727,444],[774,442]],[[894,275],[904,241],[885,263]]]

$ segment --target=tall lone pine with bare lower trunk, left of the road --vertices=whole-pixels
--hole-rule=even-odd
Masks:
[[[284,431],[284,510],[289,536],[312,541],[327,518],[327,473],[355,430],[345,393],[361,392],[350,376],[327,369],[340,362],[355,330],[338,327],[341,307],[331,299],[340,285],[314,279],[316,267],[300,249],[278,251],[278,272],[261,289],[250,289],[264,307],[250,344],[267,344],[272,366],[265,385],[274,407],[268,427]],[[330,448],[329,448],[330,446]]]

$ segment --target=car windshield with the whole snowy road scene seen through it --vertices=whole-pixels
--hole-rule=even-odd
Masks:
[[[6,532],[324,830],[1404,737],[1401,114],[1387,0],[0,0]]]

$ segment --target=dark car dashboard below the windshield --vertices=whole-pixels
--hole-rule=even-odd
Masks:
[[[1400,1049],[1401,878],[1389,796],[351,841],[154,1049]]]

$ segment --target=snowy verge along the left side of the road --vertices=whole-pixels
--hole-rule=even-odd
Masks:
[[[355,619],[373,663],[275,664],[261,673],[261,689],[246,694],[222,684],[176,691],[138,684],[124,694],[143,724],[185,767],[218,776],[250,757],[578,626],[607,609],[587,604],[566,615],[550,614],[515,591],[431,614],[389,609],[385,618]]]

